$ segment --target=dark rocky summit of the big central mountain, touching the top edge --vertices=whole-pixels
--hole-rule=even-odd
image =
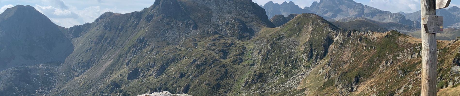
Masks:
[[[251,37],[261,27],[275,27],[264,9],[250,0],[157,0],[149,9],[143,10],[148,16],[192,23],[196,26],[193,30],[204,31],[199,33],[242,39]]]

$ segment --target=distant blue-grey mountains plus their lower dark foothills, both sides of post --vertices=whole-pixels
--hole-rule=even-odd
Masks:
[[[350,30],[374,30],[380,32],[384,32],[384,30],[398,30],[409,35],[409,33],[413,34],[421,27],[420,10],[414,13],[391,13],[368,5],[362,5],[354,0],[320,0],[319,2],[313,2],[310,7],[305,8],[300,8],[292,1],[289,3],[283,2],[282,4],[270,1],[262,7],[265,9],[269,18],[275,15],[314,13],[322,16],[328,21],[337,22],[334,24],[340,24],[338,26],[348,27]],[[451,6],[449,9],[439,9],[437,10],[437,15],[444,17],[444,26],[446,28],[459,28],[460,8],[457,6]],[[362,25],[366,27],[358,28],[363,27]],[[453,33],[453,31],[446,31],[441,34],[445,34],[444,37],[438,37],[440,40],[452,40],[460,36],[448,35],[449,33]]]

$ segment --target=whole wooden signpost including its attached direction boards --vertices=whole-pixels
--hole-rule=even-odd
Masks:
[[[422,96],[436,96],[436,33],[443,33],[443,17],[437,9],[449,7],[450,0],[420,0],[422,17]]]

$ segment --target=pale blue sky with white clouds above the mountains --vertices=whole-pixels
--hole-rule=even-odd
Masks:
[[[253,0],[264,5],[268,1],[281,4],[290,0]],[[312,2],[319,0],[292,0],[301,8],[310,6]],[[420,10],[420,0],[355,0],[363,5],[369,5],[380,10],[393,13],[415,12]],[[93,22],[104,12],[129,13],[140,11],[153,5],[155,0],[0,0],[0,13],[15,5],[31,5],[46,15],[57,25],[69,28],[74,25],[82,25]],[[460,0],[452,0],[450,6],[459,6]]]

